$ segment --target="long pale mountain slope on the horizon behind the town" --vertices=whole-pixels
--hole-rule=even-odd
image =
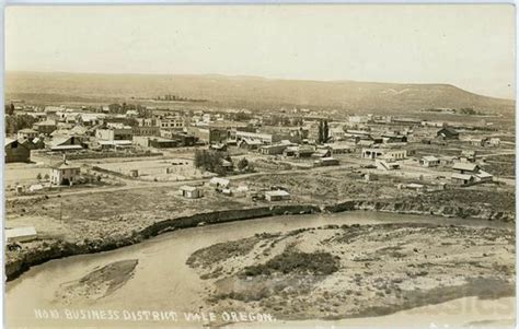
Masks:
[[[154,97],[176,94],[214,103],[268,107],[299,105],[345,110],[416,110],[473,107],[514,113],[511,99],[476,95],[449,84],[270,80],[255,77],[8,72],[8,96],[47,94],[55,98]]]

